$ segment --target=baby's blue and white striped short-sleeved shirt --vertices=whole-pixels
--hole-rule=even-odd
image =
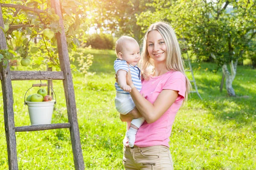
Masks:
[[[129,64],[130,71],[131,71],[131,80],[134,83],[134,87],[137,88],[138,91],[141,90],[141,79],[140,79],[140,68],[137,67],[137,65],[132,66]],[[124,70],[124,71],[129,71],[128,70],[128,65],[125,60],[121,59],[116,59],[114,62],[114,69],[117,73],[119,70]],[[120,88],[119,84],[116,82],[115,83],[115,88],[117,93],[122,93],[122,94],[130,94],[127,91],[123,91],[122,88]]]

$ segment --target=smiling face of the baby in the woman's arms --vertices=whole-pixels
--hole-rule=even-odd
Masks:
[[[140,46],[137,42],[126,42],[122,51],[122,60],[130,65],[137,65],[140,60]]]

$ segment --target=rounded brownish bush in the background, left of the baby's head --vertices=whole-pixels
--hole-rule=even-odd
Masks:
[[[96,49],[114,48],[114,40],[111,34],[89,34],[87,37],[86,47],[90,46]]]

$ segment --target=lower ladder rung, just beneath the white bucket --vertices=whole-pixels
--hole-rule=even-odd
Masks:
[[[70,127],[71,127],[70,123],[56,123],[56,124],[44,124],[44,125],[20,126],[20,127],[15,127],[15,132],[28,132],[28,131],[38,131],[38,130],[70,128]]]

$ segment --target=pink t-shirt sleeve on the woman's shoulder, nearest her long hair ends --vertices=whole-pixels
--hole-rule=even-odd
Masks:
[[[170,77],[165,85],[163,86],[163,90],[169,89],[173,91],[178,91],[179,96],[177,97],[176,101],[183,100],[185,98],[186,92],[186,78],[182,74],[180,78],[173,78]]]

